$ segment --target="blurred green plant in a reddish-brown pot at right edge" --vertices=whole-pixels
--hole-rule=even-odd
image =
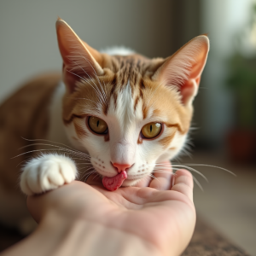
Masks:
[[[250,21],[236,36],[236,50],[228,61],[230,73],[226,81],[235,100],[235,125],[228,134],[228,149],[232,160],[242,162],[256,161],[256,42],[249,42],[248,37],[253,31],[256,37],[256,4]],[[242,49],[247,47],[242,45],[245,38],[251,44],[246,54]]]

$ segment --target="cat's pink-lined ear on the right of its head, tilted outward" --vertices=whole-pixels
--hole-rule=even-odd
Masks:
[[[166,86],[175,86],[183,105],[190,106],[197,94],[201,73],[207,62],[209,39],[202,35],[185,44],[157,69],[152,79]]]

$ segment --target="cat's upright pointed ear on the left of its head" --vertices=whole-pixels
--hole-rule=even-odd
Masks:
[[[58,19],[56,32],[63,60],[63,80],[72,93],[81,79],[90,79],[104,73],[102,55],[84,43],[67,22]]]

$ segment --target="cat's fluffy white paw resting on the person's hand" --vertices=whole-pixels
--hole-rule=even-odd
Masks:
[[[20,177],[20,189],[26,195],[39,194],[71,183],[77,168],[70,158],[59,154],[43,154],[30,160]]]

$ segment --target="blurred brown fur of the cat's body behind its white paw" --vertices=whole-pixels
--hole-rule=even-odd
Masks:
[[[60,73],[41,75],[24,84],[0,106],[0,184],[6,193],[20,194],[18,186],[22,161],[31,154],[18,154],[38,149],[23,148],[26,139],[44,139],[49,125],[49,102],[61,80]]]

